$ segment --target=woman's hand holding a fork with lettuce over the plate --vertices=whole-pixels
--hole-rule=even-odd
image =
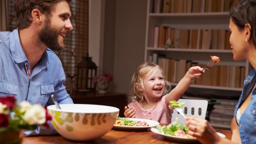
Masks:
[[[190,116],[185,116],[184,119],[187,120],[185,124],[189,128],[188,134],[196,137],[200,143],[218,144],[220,142],[221,137],[207,120]]]

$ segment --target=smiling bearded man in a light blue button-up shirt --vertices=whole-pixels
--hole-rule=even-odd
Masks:
[[[0,97],[15,96],[17,104],[28,101],[43,107],[73,103],[67,94],[60,59],[51,50],[64,48],[64,37],[72,30],[70,0],[16,0],[17,29],[0,32]],[[24,136],[50,135],[56,131],[38,127]]]

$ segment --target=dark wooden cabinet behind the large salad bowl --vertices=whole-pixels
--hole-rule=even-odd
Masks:
[[[71,98],[76,104],[97,104],[119,108],[119,116],[124,117],[124,109],[127,105],[124,93],[105,93],[73,91]]]

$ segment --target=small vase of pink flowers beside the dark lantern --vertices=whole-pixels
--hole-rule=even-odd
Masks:
[[[101,75],[95,75],[93,82],[96,83],[96,87],[98,89],[99,93],[106,93],[108,86],[109,86],[109,82],[113,81],[113,76],[110,73],[104,73]]]

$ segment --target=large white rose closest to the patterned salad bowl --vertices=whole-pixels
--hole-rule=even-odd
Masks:
[[[46,122],[45,109],[40,104],[34,104],[28,109],[23,119],[29,124],[44,124]]]

